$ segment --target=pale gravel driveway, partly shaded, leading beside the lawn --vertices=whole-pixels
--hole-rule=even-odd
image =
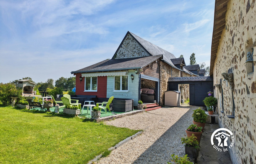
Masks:
[[[125,116],[105,124],[143,133],[131,141],[114,149],[109,156],[101,158],[97,164],[166,164],[171,154],[183,156],[184,145],[181,137],[186,136],[186,128],[192,124],[192,110],[195,106],[162,107],[149,112]]]

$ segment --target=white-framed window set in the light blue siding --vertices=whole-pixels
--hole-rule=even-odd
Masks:
[[[128,92],[128,75],[114,76],[114,91]]]

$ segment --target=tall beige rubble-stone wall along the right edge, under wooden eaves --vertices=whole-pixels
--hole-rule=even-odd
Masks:
[[[224,111],[219,112],[219,124],[234,133],[235,146],[230,152],[239,164],[256,163],[256,52],[253,54],[253,62],[246,63],[246,54],[252,48],[256,50],[254,3],[255,0],[228,2],[226,27],[221,35],[213,67],[214,84],[220,84],[222,80],[223,88],[223,93],[218,87],[214,90],[219,111]],[[221,74],[228,72],[233,72],[233,86],[227,81],[223,82]],[[234,119],[227,117],[233,114]]]

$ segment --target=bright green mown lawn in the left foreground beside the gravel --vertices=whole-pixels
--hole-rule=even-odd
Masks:
[[[62,114],[0,107],[0,163],[87,163],[135,133]]]

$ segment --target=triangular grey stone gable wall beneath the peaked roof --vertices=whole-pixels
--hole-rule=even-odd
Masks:
[[[119,51],[114,56],[114,59],[124,59],[133,57],[150,56],[145,49],[141,47],[137,41],[132,38],[130,34],[124,39],[123,44],[120,46]]]

